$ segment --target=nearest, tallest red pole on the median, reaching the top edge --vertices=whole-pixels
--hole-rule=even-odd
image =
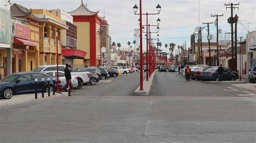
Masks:
[[[139,1],[139,35],[140,35],[140,91],[143,89],[143,41],[142,41],[142,0]]]

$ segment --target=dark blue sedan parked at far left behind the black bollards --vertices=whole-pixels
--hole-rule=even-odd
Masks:
[[[37,77],[37,90],[42,91],[42,77],[44,77],[44,91],[48,91],[47,77],[50,77],[50,91],[53,91],[52,77],[42,73],[22,72],[14,73],[0,81],[0,97],[10,99],[15,94],[35,92],[35,78]]]

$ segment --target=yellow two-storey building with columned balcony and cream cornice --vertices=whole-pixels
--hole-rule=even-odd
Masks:
[[[39,23],[39,65],[56,65],[62,62],[61,30],[68,26],[62,24],[62,19],[43,9],[32,9],[32,14],[38,17]],[[57,40],[58,38],[58,40]],[[56,48],[58,45],[58,49]],[[57,53],[58,51],[58,53]]]

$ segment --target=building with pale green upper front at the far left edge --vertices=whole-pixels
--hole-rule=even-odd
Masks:
[[[0,79],[11,73],[11,36],[10,3],[0,0]]]

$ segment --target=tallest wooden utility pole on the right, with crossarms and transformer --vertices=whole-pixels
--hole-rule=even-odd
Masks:
[[[238,4],[233,4],[233,3],[225,4],[225,6],[230,6],[230,7],[226,7],[226,9],[231,9],[231,17],[227,19],[227,22],[231,24],[231,49],[232,49],[232,53],[231,53],[231,56],[232,56],[232,58],[231,58],[232,66],[231,67],[232,68],[231,69],[233,71],[235,70],[235,68],[234,68],[234,66],[235,66],[235,62],[234,62],[234,28],[233,28],[235,19],[233,17],[233,10],[235,8],[238,9],[238,7],[235,7],[234,5],[239,5],[239,3]]]

